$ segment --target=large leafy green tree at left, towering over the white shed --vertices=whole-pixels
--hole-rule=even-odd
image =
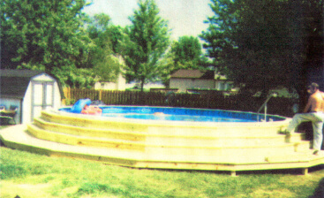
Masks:
[[[83,67],[92,41],[81,12],[86,0],[2,0],[1,65],[44,70],[64,82]]]

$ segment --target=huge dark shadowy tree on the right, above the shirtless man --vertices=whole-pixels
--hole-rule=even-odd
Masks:
[[[313,2],[313,5],[310,3]],[[213,0],[215,16],[200,37],[208,57],[237,85],[253,91],[305,86],[307,37],[323,38],[323,1]],[[316,4],[316,6],[314,6]],[[317,16],[310,17],[311,12]],[[312,21],[320,21],[310,27]],[[321,34],[321,36],[320,36]],[[322,41],[322,40],[321,40]],[[308,47],[307,47],[308,46]],[[323,42],[320,44],[323,47]],[[319,49],[319,48],[318,48]],[[319,50],[323,55],[323,50]],[[317,67],[322,66],[318,63]]]

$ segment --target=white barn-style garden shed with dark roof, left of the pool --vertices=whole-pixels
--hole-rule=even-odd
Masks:
[[[33,122],[41,110],[61,106],[63,89],[54,76],[43,71],[1,70],[1,116],[14,118],[16,124]]]

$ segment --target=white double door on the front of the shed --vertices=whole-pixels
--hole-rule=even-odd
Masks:
[[[54,107],[54,81],[32,81],[32,120]]]

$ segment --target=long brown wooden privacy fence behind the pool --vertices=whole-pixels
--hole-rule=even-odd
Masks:
[[[79,88],[64,88],[65,103],[73,104],[81,98],[100,100],[115,105],[171,106],[186,108],[207,108],[220,110],[244,110],[256,112],[264,99],[252,95],[219,94],[174,94],[165,92],[111,91]],[[291,117],[293,101],[289,98],[271,98],[267,104],[267,113]],[[263,113],[261,110],[260,113]]]

